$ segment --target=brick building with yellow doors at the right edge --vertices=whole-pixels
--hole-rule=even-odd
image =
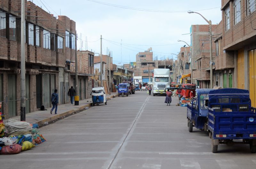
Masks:
[[[232,87],[250,91],[252,106],[256,106],[256,1],[221,0],[222,48],[228,56],[227,67],[234,67]],[[221,52],[222,53],[222,52]],[[230,74],[228,70],[226,74]],[[226,76],[228,76],[226,75]],[[225,87],[225,86],[224,86]]]

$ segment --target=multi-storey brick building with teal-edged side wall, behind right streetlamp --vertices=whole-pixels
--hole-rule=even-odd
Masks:
[[[212,25],[212,34],[217,25]],[[193,80],[200,88],[210,88],[210,34],[209,25],[192,25],[191,34],[191,59]],[[214,39],[212,39],[214,44]],[[212,48],[212,60],[215,59],[215,48]]]

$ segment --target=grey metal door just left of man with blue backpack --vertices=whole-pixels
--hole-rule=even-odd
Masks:
[[[51,107],[50,74],[43,74],[43,105]]]

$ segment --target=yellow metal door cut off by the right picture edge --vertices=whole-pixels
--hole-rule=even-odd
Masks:
[[[256,49],[249,52],[250,61],[250,98],[252,101],[252,107],[256,107]]]

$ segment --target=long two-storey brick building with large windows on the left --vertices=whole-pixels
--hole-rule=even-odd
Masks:
[[[51,107],[51,93],[67,103],[70,62],[75,60],[76,23],[53,15],[30,1],[26,6],[26,111]],[[6,118],[20,114],[21,0],[0,1],[0,101]],[[30,17],[31,16],[31,17]],[[38,17],[36,17],[38,16]]]

